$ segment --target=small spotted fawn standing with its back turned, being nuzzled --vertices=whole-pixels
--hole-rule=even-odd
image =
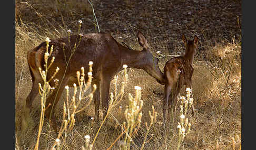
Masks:
[[[177,97],[183,85],[191,89],[193,75],[193,59],[198,46],[198,37],[194,36],[193,40],[187,40],[182,35],[182,40],[185,44],[185,54],[179,57],[171,58],[164,66],[164,96],[163,101],[163,124],[166,122],[166,109],[168,113],[173,114],[173,109],[177,103]],[[169,117],[168,117],[169,118]],[[174,119],[174,116],[173,116]]]

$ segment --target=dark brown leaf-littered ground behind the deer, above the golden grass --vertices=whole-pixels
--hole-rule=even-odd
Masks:
[[[84,5],[88,5],[86,0],[72,1],[72,7],[64,0],[56,1],[60,2],[59,5],[56,2],[52,2],[53,5],[47,0],[44,1],[45,5],[49,5],[47,11],[37,1],[29,2],[31,6],[27,6],[23,3],[25,1],[17,0],[18,14],[26,23],[42,24],[40,16],[44,16],[53,26],[62,26],[72,31],[77,29],[76,22],[81,19],[84,34],[97,31],[93,25],[92,11],[84,9]],[[151,42],[165,41],[165,48],[169,53],[173,52],[173,47],[182,44],[182,34],[188,38],[197,35],[201,45],[199,51],[206,50],[206,45],[232,42],[234,36],[240,40],[241,1],[94,0],[93,5],[102,32],[111,33],[123,41],[127,38],[135,41],[137,31],[141,30]],[[70,12],[67,12],[66,7]],[[35,12],[40,12],[40,15]],[[28,16],[31,14],[34,15]],[[48,26],[50,23],[43,24]],[[151,46],[155,52],[161,50],[155,44]]]

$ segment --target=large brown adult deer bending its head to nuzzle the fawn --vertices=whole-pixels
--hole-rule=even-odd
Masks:
[[[57,131],[56,119],[54,116],[54,109],[60,96],[63,92],[65,85],[73,87],[73,83],[76,81],[76,71],[84,67],[84,71],[88,72],[88,62],[93,61],[93,79],[92,85],[96,84],[97,89],[94,92],[94,106],[95,106],[95,120],[99,121],[99,106],[100,99],[102,101],[103,118],[106,116],[106,111],[109,108],[109,90],[110,82],[116,73],[121,71],[123,65],[127,65],[128,68],[138,68],[145,70],[150,76],[154,77],[157,82],[164,84],[163,73],[158,66],[158,59],[153,57],[150,52],[149,44],[146,38],[141,32],[137,34],[137,38],[140,46],[143,47],[142,51],[131,50],[119,44],[110,34],[106,33],[91,33],[82,36],[80,45],[77,47],[73,54],[70,63],[67,67],[67,71],[64,74],[66,68],[65,56],[69,58],[71,56],[71,47],[74,45],[78,35],[73,35],[64,38],[58,38],[49,42],[49,47],[54,46],[53,53],[51,55],[55,57],[55,61],[48,70],[48,74],[52,75],[55,72],[55,68],[60,68],[60,71],[56,74],[55,78],[62,79],[63,82],[56,87],[52,95],[46,100],[46,106],[51,104],[45,111],[46,117],[50,119],[51,125],[55,132]],[[70,40],[70,42],[69,42]],[[76,45],[77,45],[76,43]],[[65,55],[63,53],[65,49]],[[32,76],[33,87],[28,97],[26,98],[26,110],[30,110],[32,102],[38,94],[38,83],[42,83],[42,78],[38,68],[44,68],[44,53],[46,52],[46,42],[42,42],[39,46],[28,51],[27,61],[29,70]],[[49,59],[49,61],[51,58]],[[49,77],[50,78],[50,77]],[[85,79],[87,80],[87,79]],[[50,85],[54,84],[53,81]],[[57,92],[57,89],[59,91]],[[101,92],[100,92],[101,91]],[[56,98],[55,98],[56,97]],[[55,102],[54,102],[55,99]],[[52,110],[52,113],[51,113]]]

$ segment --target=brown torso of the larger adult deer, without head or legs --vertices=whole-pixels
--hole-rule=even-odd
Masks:
[[[68,59],[71,57],[67,73],[73,73],[72,75],[76,75],[76,71],[80,70],[81,67],[84,67],[85,72],[87,72],[89,61],[93,61],[94,75],[104,69],[116,68],[115,66],[119,65],[121,61],[118,43],[110,34],[85,34],[81,39],[79,35],[72,35],[70,38],[51,39],[51,42],[49,42],[49,53],[52,45],[53,52],[51,57],[55,57],[53,67],[51,67],[52,70],[55,70],[55,67],[64,70]],[[75,52],[72,55],[74,50]],[[28,63],[34,64],[33,67],[43,68],[45,52],[46,42],[42,42],[39,46],[28,52]],[[48,59],[49,63],[51,57]]]

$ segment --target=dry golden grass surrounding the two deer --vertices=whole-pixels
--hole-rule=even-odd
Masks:
[[[31,90],[32,82],[28,70],[26,53],[28,50],[40,44],[46,37],[58,38],[67,36],[67,29],[76,26],[77,20],[80,19],[81,12],[91,12],[88,4],[76,5],[78,1],[33,1],[23,3],[16,1],[16,37],[15,37],[15,138],[16,149],[34,149],[38,132],[38,121],[40,120],[40,99],[37,97],[33,103],[31,116],[33,120],[28,123],[25,132],[21,131],[21,118],[23,116],[23,107],[25,99]],[[56,3],[56,4],[55,4]],[[65,7],[61,7],[61,3]],[[130,1],[125,1],[126,5],[132,5]],[[61,5],[61,6],[60,6]],[[33,8],[31,8],[33,6]],[[57,8],[57,12],[49,13],[47,16],[46,7],[50,10]],[[28,9],[29,8],[29,9]],[[60,13],[61,12],[61,13]],[[29,15],[29,14],[36,15]],[[54,20],[56,16],[63,16],[63,20]],[[20,18],[18,17],[20,16]],[[31,20],[29,17],[41,20],[40,23],[26,22]],[[50,18],[48,18],[50,17]],[[72,24],[73,22],[73,24]],[[54,25],[57,23],[56,25]],[[71,24],[69,24],[71,23]],[[66,24],[66,25],[64,25]],[[68,24],[68,25],[67,25]],[[102,24],[102,23],[100,23]],[[60,25],[60,26],[59,26]],[[123,39],[116,38],[118,41]],[[139,50],[136,39],[132,35],[125,39],[126,44],[134,49]],[[161,53],[165,56],[183,53],[184,46],[177,44],[173,47],[171,53],[166,49],[166,41],[157,41],[149,39],[151,47],[161,48]],[[194,74],[192,92],[194,97],[194,108],[196,113],[192,116],[189,114],[192,124],[191,131],[184,139],[184,149],[239,149],[241,145],[241,44],[240,41],[225,41],[216,45],[207,45],[205,52],[206,57],[202,59],[201,53],[198,52],[194,61]],[[154,51],[154,55],[157,55]],[[162,70],[165,62],[170,57],[160,59],[160,69]],[[233,61],[233,63],[232,63]],[[125,88],[123,100],[111,110],[109,122],[104,125],[97,137],[93,149],[106,149],[122,133],[119,124],[125,121],[125,106],[128,105],[128,93],[135,94],[134,86],[142,88],[141,100],[144,101],[142,108],[142,122],[139,134],[134,136],[131,143],[131,149],[140,149],[144,136],[147,132],[145,122],[150,123],[149,111],[154,105],[155,111],[159,114],[156,122],[152,125],[147,136],[145,149],[164,149],[164,138],[162,136],[162,101],[164,99],[163,85],[156,83],[155,79],[150,77],[146,72],[139,69],[128,69],[128,82]],[[117,74],[119,80],[117,85],[121,87],[123,73]],[[72,90],[71,90],[72,91]],[[111,82],[110,92],[114,91],[113,81]],[[72,93],[71,93],[72,94]],[[185,94],[183,88],[180,95]],[[56,118],[60,121],[63,116],[63,103],[65,94],[56,106]],[[85,104],[82,104],[82,106]],[[121,107],[120,107],[121,106]],[[176,110],[179,114],[179,109]],[[101,115],[102,113],[100,113]],[[74,129],[67,135],[66,143],[63,149],[82,149],[85,147],[85,135],[95,137],[100,124],[90,121],[94,116],[93,103],[88,109],[78,113]],[[102,116],[100,116],[102,118]],[[178,118],[176,119],[178,121]],[[170,149],[176,149],[178,144],[177,124],[168,126],[168,146]],[[153,136],[151,136],[153,135]],[[50,125],[45,121],[42,128],[39,149],[50,149],[55,142],[56,135]],[[124,136],[117,141],[112,149],[120,149]]]

